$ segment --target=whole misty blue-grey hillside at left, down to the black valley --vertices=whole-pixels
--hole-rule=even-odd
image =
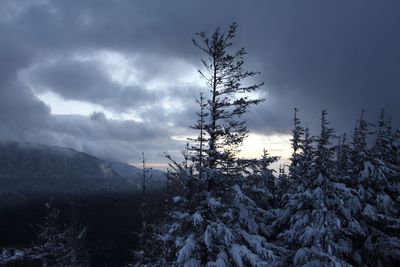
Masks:
[[[0,142],[0,207],[47,196],[137,191],[141,170],[110,163],[70,148]],[[164,177],[152,170],[155,181]],[[157,187],[163,183],[157,183]]]

